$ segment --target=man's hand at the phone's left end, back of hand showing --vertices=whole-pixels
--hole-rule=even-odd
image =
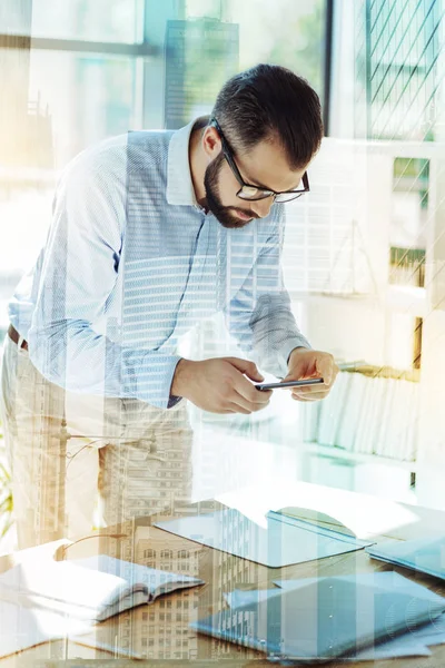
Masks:
[[[171,383],[171,394],[185,396],[210,413],[249,415],[267,406],[271,391],[260,392],[246,376],[264,381],[254,362],[239,357],[215,357],[202,362],[180,360]]]

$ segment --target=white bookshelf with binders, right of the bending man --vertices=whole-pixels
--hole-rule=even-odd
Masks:
[[[290,240],[305,240],[298,276],[285,273],[313,347],[368,362],[301,404],[304,452],[397,466],[416,491],[445,465],[443,155],[439,143],[326,138],[305,210],[290,216]]]

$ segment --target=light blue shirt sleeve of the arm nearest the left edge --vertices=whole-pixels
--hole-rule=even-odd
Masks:
[[[123,345],[93,325],[103,318],[123,271],[125,159],[113,169],[109,160],[78,157],[58,185],[52,213],[28,333],[32,363],[72,392],[170,407],[180,357]]]

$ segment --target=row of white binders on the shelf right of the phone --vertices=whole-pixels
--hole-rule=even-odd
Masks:
[[[372,364],[342,370],[324,401],[303,405],[305,450],[414,473],[419,379],[419,370]]]

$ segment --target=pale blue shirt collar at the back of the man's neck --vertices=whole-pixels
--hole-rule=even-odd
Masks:
[[[168,204],[197,206],[188,155],[191,130],[197,120],[198,118],[195,118],[171,136],[167,161]]]

